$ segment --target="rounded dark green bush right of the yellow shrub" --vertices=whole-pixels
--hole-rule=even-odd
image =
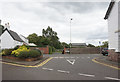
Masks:
[[[41,56],[41,54],[37,50],[30,50],[30,51],[21,51],[18,55],[19,58],[37,58]]]

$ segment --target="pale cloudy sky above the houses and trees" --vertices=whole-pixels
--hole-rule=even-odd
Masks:
[[[72,43],[108,41],[107,20],[104,16],[109,2],[3,2],[0,3],[2,24],[9,22],[10,29],[28,36],[42,35],[42,29],[52,27],[61,42]]]

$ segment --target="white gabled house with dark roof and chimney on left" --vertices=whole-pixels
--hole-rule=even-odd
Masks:
[[[19,37],[19,35],[10,30],[9,23],[5,24],[4,29],[1,31],[0,36],[0,48],[1,49],[10,49],[14,48],[17,45],[23,45],[24,41]]]

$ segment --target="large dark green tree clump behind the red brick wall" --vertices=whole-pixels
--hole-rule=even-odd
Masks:
[[[57,32],[53,31],[50,26],[47,29],[42,30],[42,36],[38,36],[37,34],[33,33],[30,34],[28,37],[30,43],[35,43],[37,46],[46,46],[49,45],[56,49],[62,49],[62,43],[59,41],[57,36]],[[68,46],[66,44],[66,46]]]

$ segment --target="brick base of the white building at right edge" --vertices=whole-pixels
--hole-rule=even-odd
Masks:
[[[120,62],[120,52],[115,52],[115,50],[109,50],[108,59],[114,62]]]

